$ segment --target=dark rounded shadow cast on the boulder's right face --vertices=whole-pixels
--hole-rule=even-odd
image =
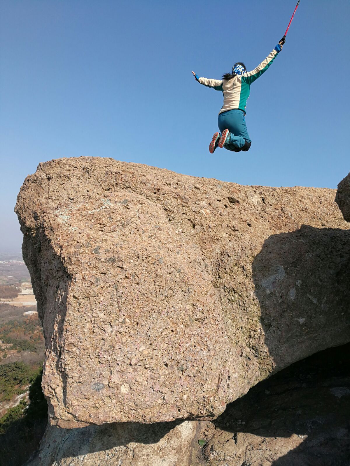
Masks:
[[[274,370],[327,348],[323,335],[349,341],[350,230],[303,225],[272,235],[253,260],[252,276]]]

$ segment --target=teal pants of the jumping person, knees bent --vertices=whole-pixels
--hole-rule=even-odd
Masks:
[[[229,151],[239,152],[244,146],[246,147],[246,143],[252,142],[242,110],[228,110],[220,113],[217,125],[221,133],[226,129],[230,131],[230,141],[224,145],[224,148]]]

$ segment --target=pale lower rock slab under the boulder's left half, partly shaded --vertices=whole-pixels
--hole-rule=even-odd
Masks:
[[[26,466],[201,466],[206,462],[199,459],[200,424],[49,425],[40,451]]]

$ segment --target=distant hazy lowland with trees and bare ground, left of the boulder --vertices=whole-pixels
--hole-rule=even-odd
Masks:
[[[44,350],[27,267],[21,256],[0,254],[0,466],[22,465],[42,438]]]

